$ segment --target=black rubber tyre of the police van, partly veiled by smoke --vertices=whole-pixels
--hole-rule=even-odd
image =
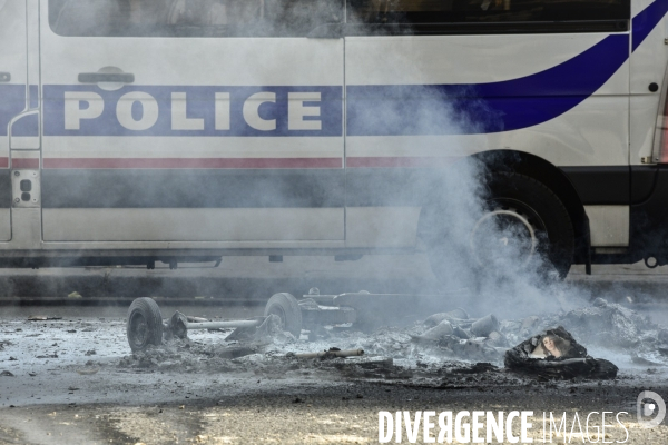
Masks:
[[[556,275],[559,278],[564,278],[572,264],[576,243],[572,221],[559,197],[544,184],[520,174],[493,172],[487,186],[483,202],[484,214],[478,222],[498,225],[499,219],[503,218],[522,221],[521,224],[509,222],[508,226],[512,224],[521,226],[523,224],[527,227],[527,233],[531,234],[529,237],[531,240],[528,241],[530,247],[521,247],[531,251],[527,255],[528,260],[531,258],[532,265],[538,265],[538,271],[543,277]],[[442,209],[440,211],[443,212]],[[490,217],[490,215],[492,216]],[[422,221],[423,216],[425,222]],[[443,258],[449,256],[445,249],[452,248],[453,243],[448,240],[448,235],[443,231],[439,234],[433,229],[425,230],[422,228],[423,225],[434,224],[433,218],[430,221],[429,217],[429,209],[421,215],[421,234],[428,234],[428,239],[423,240],[426,243],[432,269],[440,277],[446,273],[443,269],[443,267],[448,267],[446,263],[443,261]],[[488,217],[489,221],[483,221]],[[460,253],[460,255],[468,256],[473,268],[500,275],[512,274],[513,270],[503,270],[502,268],[501,270],[494,270],[493,255],[490,255],[490,251],[495,247],[490,243],[480,243],[480,246],[483,249],[487,248],[488,251],[475,251],[477,243],[473,240],[473,233],[477,227],[478,225],[474,225],[471,229],[472,235],[470,246],[466,248],[468,251]],[[507,238],[503,239],[508,243]],[[518,237],[518,239],[521,239],[521,237]],[[439,243],[439,240],[441,241]],[[461,246],[462,243],[460,241],[459,245]],[[452,256],[452,253],[450,253],[450,256]],[[523,263],[513,265],[517,269],[523,266],[525,266]]]

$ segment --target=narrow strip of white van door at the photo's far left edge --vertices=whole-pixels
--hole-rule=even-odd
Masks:
[[[0,0],[0,240],[11,238],[10,127],[27,109],[26,2]]]

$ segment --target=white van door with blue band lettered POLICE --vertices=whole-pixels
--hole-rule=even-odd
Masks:
[[[342,243],[341,2],[42,6],[45,240]]]

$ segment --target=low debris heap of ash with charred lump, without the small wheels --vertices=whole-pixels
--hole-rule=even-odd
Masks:
[[[295,307],[298,313],[298,306]],[[325,312],[322,307],[318,310]],[[179,329],[177,318],[188,327]],[[597,298],[590,307],[518,320],[499,320],[493,314],[473,318],[456,308],[406,327],[382,326],[371,333],[360,332],[354,323],[326,326],[312,323],[296,336],[284,330],[283,320],[275,314],[258,317],[252,326],[248,322],[213,323],[180,314],[177,318],[173,317],[165,326],[163,345],[136,350],[118,366],[247,372],[272,375],[272,378],[292,372],[325,372],[343,378],[411,379],[412,384],[422,379],[432,385],[441,382],[439,385],[455,386],[461,375],[466,374],[478,377],[465,382],[478,382],[482,374],[488,376],[485,378],[505,378],[502,377],[505,375],[503,365],[519,373],[520,377],[514,374],[515,378],[613,378],[618,368],[610,362],[589,356],[576,337],[583,344],[632,349],[642,357],[650,352],[662,354],[668,364],[668,330],[660,330],[633,310],[602,298]],[[227,326],[226,323],[237,323],[239,327],[204,329],[205,326]],[[209,335],[219,333],[220,338],[214,344],[193,340],[188,338],[188,329],[207,330]],[[541,349],[541,342],[547,337],[557,342],[550,347],[568,347],[560,353],[546,352]],[[509,349],[513,344],[517,346]],[[657,360],[655,355],[651,360]]]

